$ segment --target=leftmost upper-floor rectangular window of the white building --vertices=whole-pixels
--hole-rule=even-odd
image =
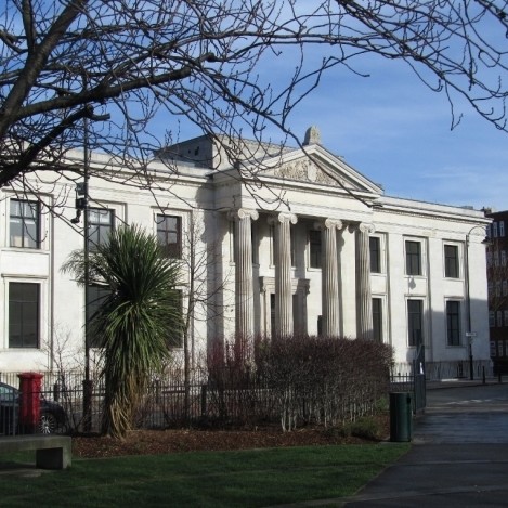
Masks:
[[[11,199],[11,247],[40,248],[40,207],[37,201]]]

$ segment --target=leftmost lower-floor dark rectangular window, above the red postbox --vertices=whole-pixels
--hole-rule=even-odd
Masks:
[[[40,286],[9,283],[9,347],[39,347]]]

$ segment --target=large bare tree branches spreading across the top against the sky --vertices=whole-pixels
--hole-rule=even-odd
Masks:
[[[64,160],[87,138],[136,171],[130,184],[149,186],[146,162],[178,141],[180,120],[218,141],[261,141],[272,123],[298,142],[289,114],[322,74],[360,74],[356,62],[373,53],[405,61],[445,93],[453,126],[465,99],[506,130],[507,30],[502,0],[5,0],[0,185],[37,190],[25,179],[34,171],[79,177],[81,165]],[[289,58],[285,79],[265,71]],[[227,157],[236,149],[227,144]],[[127,181],[123,171],[92,171]]]

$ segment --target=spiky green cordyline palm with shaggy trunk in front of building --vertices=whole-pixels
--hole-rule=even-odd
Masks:
[[[167,360],[168,341],[181,329],[180,264],[164,256],[155,236],[123,225],[89,252],[88,269],[89,284],[110,291],[89,325],[103,340],[102,431],[122,438],[132,428],[149,374]],[[63,271],[84,284],[83,252],[73,252]]]

